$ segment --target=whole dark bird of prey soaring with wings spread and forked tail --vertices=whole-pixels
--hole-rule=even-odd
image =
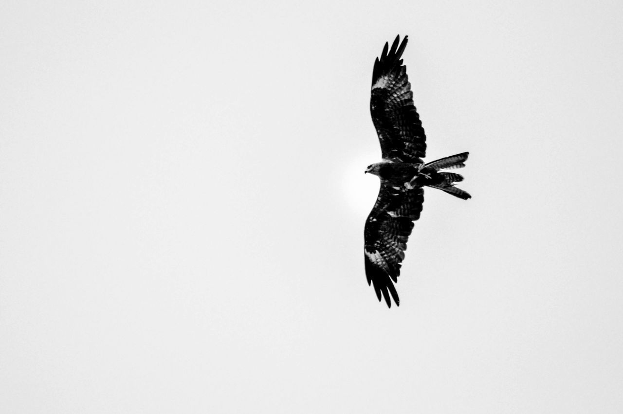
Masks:
[[[383,296],[390,308],[391,298],[396,305],[400,303],[394,283],[400,275],[413,222],[422,211],[424,187],[464,200],[472,197],[454,186],[463,180],[462,176],[440,171],[464,167],[469,153],[422,161],[426,156],[426,135],[401,59],[407,36],[402,43],[399,40],[400,36],[396,36],[391,48],[386,43],[381,57],[374,62],[370,112],[383,160],[366,169],[381,179],[379,195],[364,229],[366,277],[368,285],[374,285],[379,301]]]

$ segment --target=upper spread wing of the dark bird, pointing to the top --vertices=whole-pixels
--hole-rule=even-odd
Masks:
[[[386,43],[381,58],[374,62],[370,112],[383,158],[420,163],[426,156],[426,134],[413,105],[407,67],[402,65],[407,36],[400,47],[399,38],[396,36],[389,52]]]

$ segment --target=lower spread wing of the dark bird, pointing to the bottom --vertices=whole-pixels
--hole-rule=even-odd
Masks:
[[[424,202],[424,189],[397,189],[381,181],[381,190],[364,228],[364,256],[368,285],[374,285],[376,296],[384,296],[391,308],[391,298],[400,304],[394,283],[400,275],[407,240],[413,221],[419,219]]]

